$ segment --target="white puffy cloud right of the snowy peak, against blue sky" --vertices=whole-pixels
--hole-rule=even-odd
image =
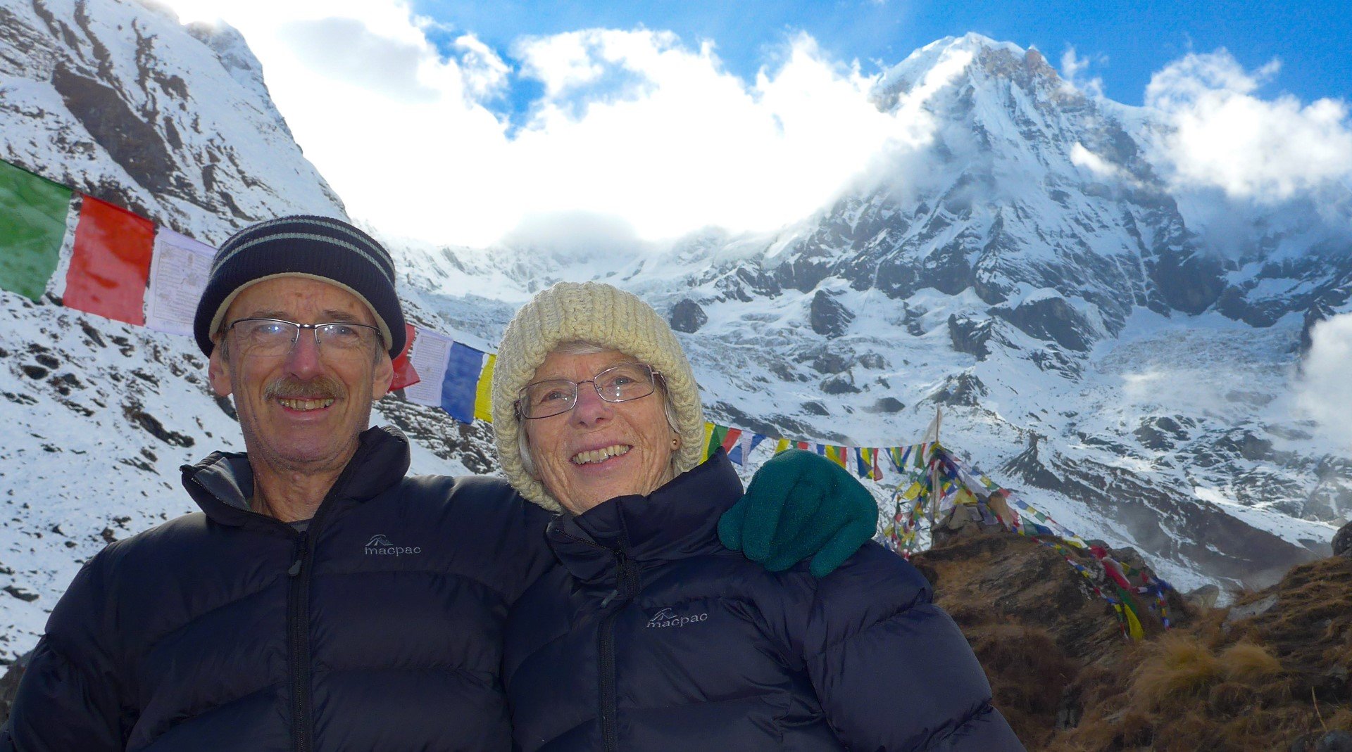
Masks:
[[[1249,73],[1218,50],[1188,54],[1151,78],[1145,104],[1171,128],[1156,158],[1178,188],[1218,188],[1271,204],[1352,176],[1347,104],[1256,96],[1279,69],[1272,61]]]

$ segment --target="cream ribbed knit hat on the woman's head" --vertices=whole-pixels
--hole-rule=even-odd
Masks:
[[[521,495],[545,509],[561,510],[545,486],[522,464],[518,433],[522,431],[515,402],[535,377],[535,369],[565,342],[587,342],[618,350],[662,374],[667,398],[676,408],[677,474],[699,464],[703,456],[704,408],[699,385],[685,351],[671,327],[653,306],[634,294],[604,282],[558,282],[541,292],[516,312],[498,344],[493,365],[493,437],[503,473]]]

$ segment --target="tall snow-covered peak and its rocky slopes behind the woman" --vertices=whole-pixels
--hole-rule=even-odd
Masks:
[[[1313,323],[1352,308],[1352,240],[1297,204],[1215,247],[1149,159],[1168,126],[1036,50],[942,39],[875,97],[929,113],[932,140],[795,227],[626,265],[423,251],[412,284],[485,338],[554,279],[630,288],[687,332],[713,416],[772,436],[906,443],[942,405],[949,446],[1180,586],[1325,552],[1352,463],[1288,392]],[[496,300],[465,294],[483,279]]]

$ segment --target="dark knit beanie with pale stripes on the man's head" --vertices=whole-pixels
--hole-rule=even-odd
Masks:
[[[235,296],[277,277],[319,279],[357,296],[376,316],[389,356],[403,351],[404,313],[395,293],[389,251],[346,221],[310,215],[249,225],[220,246],[192,321],[197,347],[210,356],[215,350],[211,335],[220,331]]]

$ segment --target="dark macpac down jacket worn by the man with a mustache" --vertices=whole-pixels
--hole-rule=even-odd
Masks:
[[[307,532],[233,506],[241,454],[184,467],[193,513],[89,560],[11,717],[19,752],[507,749],[508,605],[548,514],[489,478],[404,478],[361,435]]]

